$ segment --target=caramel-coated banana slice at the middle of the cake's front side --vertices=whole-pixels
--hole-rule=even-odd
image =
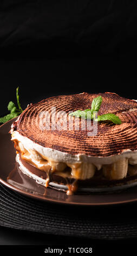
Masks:
[[[67,164],[71,168],[71,175],[75,179],[86,180],[94,176],[96,167],[92,163]]]

